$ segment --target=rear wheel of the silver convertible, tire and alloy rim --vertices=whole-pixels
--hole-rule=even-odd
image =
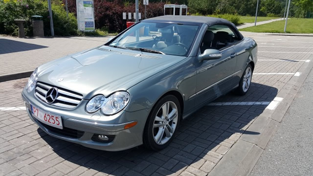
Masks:
[[[248,66],[246,66],[243,76],[240,79],[239,87],[235,91],[237,94],[245,95],[246,92],[249,90],[252,80],[252,73],[253,73],[252,66],[248,64]],[[248,78],[246,79],[247,76]]]

